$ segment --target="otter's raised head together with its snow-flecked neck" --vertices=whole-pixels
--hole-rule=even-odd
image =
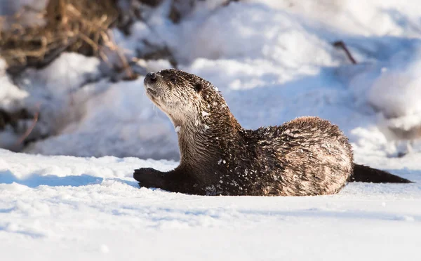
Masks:
[[[180,166],[208,168],[209,161],[217,164],[222,153],[238,143],[236,135],[241,126],[222,95],[205,79],[165,69],[147,74],[145,89],[152,102],[173,121],[178,132]]]

